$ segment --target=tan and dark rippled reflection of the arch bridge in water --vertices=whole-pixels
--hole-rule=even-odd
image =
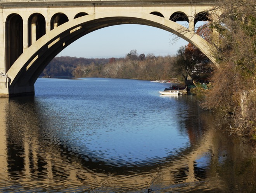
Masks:
[[[99,187],[102,190],[128,187],[129,190],[138,190],[155,184],[164,187],[194,183],[202,180],[200,175],[205,170],[197,166],[196,161],[205,157],[210,162],[211,154],[218,154],[218,147],[214,147],[214,132],[209,130],[194,147],[185,149],[176,157],[166,157],[148,166],[115,167],[70,152],[58,139],[52,144],[43,141],[39,138],[42,138],[42,124],[38,122],[36,111],[26,112],[28,107],[16,101],[2,99],[0,102],[1,107],[6,107],[2,109],[0,116],[0,187],[3,181],[7,187],[9,182],[15,182],[14,184],[20,186],[29,186],[30,189],[44,188],[44,191],[51,188],[56,190],[57,187],[59,190],[70,188],[72,191],[75,187],[89,190]],[[24,120],[25,114],[27,118]],[[11,121],[8,121],[7,117]],[[16,164],[13,164],[14,160]],[[214,178],[218,181],[217,177]]]

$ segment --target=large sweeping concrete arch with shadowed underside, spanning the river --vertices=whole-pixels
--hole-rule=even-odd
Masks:
[[[198,47],[214,62],[210,57],[209,45],[204,39],[194,32],[185,32],[185,27],[163,17],[123,12],[84,15],[52,29],[21,54],[7,72],[11,79],[9,96],[34,94],[35,81],[59,52],[90,32],[121,24],[149,25],[169,31]]]

